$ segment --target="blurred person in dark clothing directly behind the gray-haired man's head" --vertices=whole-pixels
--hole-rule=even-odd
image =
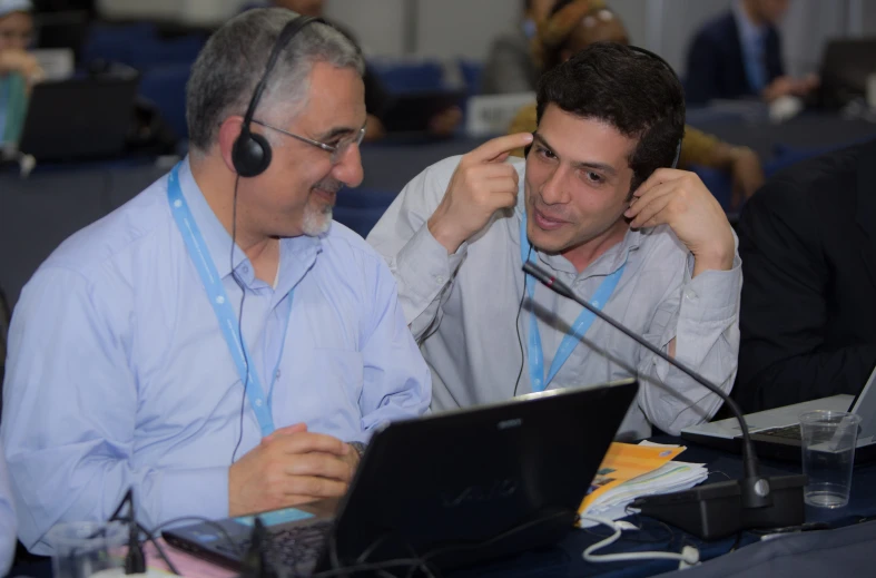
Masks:
[[[1,1],[1,0],[0,0]],[[325,0],[270,0],[267,2],[254,2],[248,4],[245,10],[250,8],[259,8],[265,6],[274,6],[276,8],[285,8],[297,12],[302,16],[311,16],[314,18],[323,18],[328,21],[333,27],[341,30],[353,43],[358,46],[355,36],[346,28],[338,26],[337,22],[329,21],[325,18]],[[383,126],[382,115],[386,112],[390,107],[392,96],[386,91],[381,79],[377,75],[365,65],[365,109],[368,112],[368,124],[365,128],[365,140],[378,140],[386,136],[386,129]],[[433,136],[445,137],[453,134],[459,124],[462,121],[462,110],[457,107],[452,107],[435,115],[430,121],[430,133]]]

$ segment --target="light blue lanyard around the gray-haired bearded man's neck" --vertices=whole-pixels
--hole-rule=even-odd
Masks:
[[[265,399],[262,382],[258,374],[253,371],[252,363],[247,364],[247,360],[253,360],[246,343],[240,341],[237,329],[237,315],[234,312],[228,295],[225,293],[219,273],[216,271],[216,265],[210,258],[209,251],[204,243],[204,237],[198,229],[195,218],[191,216],[191,210],[188,208],[188,203],[183,196],[183,189],[179,187],[179,165],[175,166],[170,172],[170,177],[167,182],[167,200],[170,204],[170,212],[174,214],[179,233],[186,242],[188,255],[198,270],[200,281],[204,283],[204,288],[207,291],[207,296],[213,305],[213,311],[216,313],[216,319],[219,322],[225,343],[228,345],[228,351],[232,354],[235,365],[237,365],[237,373],[240,375],[240,382],[246,383],[246,396],[249,398],[249,404],[258,420],[258,425],[262,429],[262,437],[267,437],[274,431],[274,418],[270,412],[270,398],[274,390],[274,382],[277,379],[277,370],[279,362],[283,359],[283,349],[286,345],[286,331],[289,327],[289,320],[286,319],[286,324],[283,327],[283,337],[279,346],[279,357],[274,368],[274,372],[268,376],[270,379],[270,392],[268,398]],[[289,293],[288,307],[289,316],[292,316],[292,298],[293,293]],[[247,366],[249,376],[247,379]]]

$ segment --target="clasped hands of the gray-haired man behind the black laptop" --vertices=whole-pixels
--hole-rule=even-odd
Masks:
[[[228,470],[228,512],[242,516],[343,496],[358,454],[304,424],[275,431]]]

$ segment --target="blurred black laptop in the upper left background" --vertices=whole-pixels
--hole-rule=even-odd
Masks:
[[[137,75],[40,82],[33,87],[18,150],[37,160],[112,157],[125,150]]]

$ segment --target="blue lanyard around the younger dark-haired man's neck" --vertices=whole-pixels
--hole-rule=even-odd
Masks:
[[[526,214],[523,213],[523,216],[520,219],[521,262],[524,263],[528,258],[530,258],[531,249],[532,247],[530,246],[529,238],[526,237]],[[614,293],[614,287],[618,286],[618,282],[623,274],[623,267],[626,266],[627,262],[624,261],[623,265],[621,265],[614,273],[608,275],[602,281],[602,284],[600,284],[596,294],[593,294],[593,298],[590,301],[591,305],[600,311],[602,310],[608,300],[611,297],[611,294]],[[530,301],[533,301],[535,297],[535,278],[531,275],[526,275],[526,293],[529,294]],[[530,310],[529,378],[530,382],[532,383],[532,391],[544,391],[548,388],[551,381],[553,381],[553,378],[557,376],[560,368],[562,368],[563,363],[565,363],[565,361],[569,359],[569,355],[572,354],[572,351],[574,351],[578,343],[580,343],[581,339],[587,334],[587,331],[590,329],[590,325],[593,324],[594,319],[597,319],[597,316],[590,313],[588,310],[583,310],[581,314],[578,315],[578,319],[572,324],[572,332],[567,334],[563,337],[563,341],[560,342],[560,347],[557,350],[557,355],[554,355],[553,362],[551,363],[551,370],[545,378],[544,353],[542,352],[541,347],[539,323],[535,319],[535,310]]]

